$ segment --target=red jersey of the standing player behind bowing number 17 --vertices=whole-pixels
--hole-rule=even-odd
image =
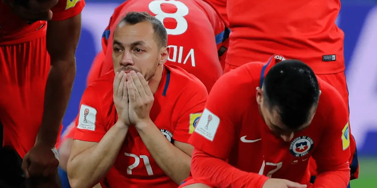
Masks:
[[[227,0],[227,64],[265,61],[274,53],[299,59],[316,74],[345,69],[344,33],[335,24],[340,0]]]

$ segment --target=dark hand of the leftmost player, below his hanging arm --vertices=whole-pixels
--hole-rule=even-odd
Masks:
[[[25,171],[26,178],[48,177],[57,172],[59,160],[56,149],[37,143],[22,161],[22,170]]]

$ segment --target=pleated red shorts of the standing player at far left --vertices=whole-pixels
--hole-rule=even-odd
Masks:
[[[0,45],[0,122],[4,146],[23,157],[41,125],[44,89],[50,70],[46,38]]]

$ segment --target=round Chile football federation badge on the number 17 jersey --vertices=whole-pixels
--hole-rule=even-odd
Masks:
[[[293,139],[289,150],[295,157],[302,157],[307,155],[314,147],[313,139],[309,136],[298,136]]]

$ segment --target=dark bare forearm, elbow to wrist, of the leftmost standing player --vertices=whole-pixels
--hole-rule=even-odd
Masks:
[[[59,61],[53,60],[51,61]],[[75,59],[54,62],[51,66],[44,94],[43,118],[37,136],[37,143],[55,146],[60,124],[72,91],[75,78]]]

